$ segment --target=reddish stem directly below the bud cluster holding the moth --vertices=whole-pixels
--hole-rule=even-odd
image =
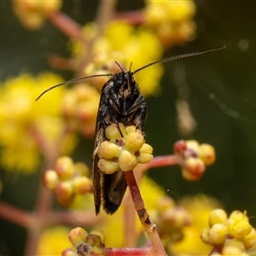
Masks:
[[[144,207],[144,202],[140,190],[138,189],[136,179],[134,177],[133,171],[125,172],[125,178],[128,184],[128,187],[131,192],[131,198],[134,204],[134,207],[137,211],[137,215],[143,224],[143,228],[148,234],[148,238],[152,243],[154,249],[154,255],[165,255],[166,251],[160,241],[160,237],[158,236],[156,225],[153,224],[149,218],[148,212]]]

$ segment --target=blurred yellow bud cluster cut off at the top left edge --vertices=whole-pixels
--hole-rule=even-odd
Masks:
[[[29,29],[39,29],[47,16],[61,9],[61,0],[34,1],[13,0],[13,9],[21,23]]]

